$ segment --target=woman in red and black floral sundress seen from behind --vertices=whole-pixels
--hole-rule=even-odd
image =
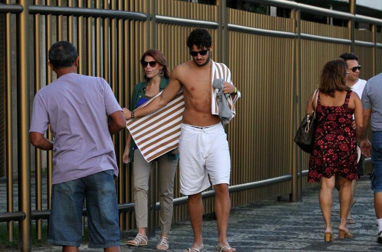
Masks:
[[[363,111],[360,98],[346,86],[347,67],[344,61],[332,60],[325,64],[316,97],[310,96],[306,112],[315,110],[313,153],[309,160],[308,182],[320,182],[319,202],[325,222],[324,240],[334,240],[330,223],[332,191],[340,185],[339,239],[352,238],[347,228],[346,216],[352,199],[351,182],[358,179],[357,140],[363,126]],[[312,103],[313,101],[313,103]],[[356,129],[352,126],[355,116]]]

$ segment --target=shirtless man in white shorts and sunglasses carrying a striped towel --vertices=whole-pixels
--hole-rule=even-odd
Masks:
[[[187,208],[191,219],[194,241],[185,252],[203,249],[201,192],[210,186],[215,189],[219,252],[235,252],[227,242],[228,218],[231,201],[228,193],[230,155],[228,142],[219,116],[211,114],[212,39],[205,29],[193,30],[188,39],[192,60],[178,65],[171,73],[170,83],[162,94],[149,105],[131,113],[123,109],[126,118],[151,114],[169,103],[183,88],[185,111],[179,142],[181,193],[188,195]],[[235,95],[237,89],[224,83],[224,94]]]

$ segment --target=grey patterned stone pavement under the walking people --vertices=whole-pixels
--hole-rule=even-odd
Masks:
[[[349,225],[354,239],[338,240],[338,194],[333,193],[333,230],[335,241],[323,241],[323,220],[318,204],[318,189],[303,193],[303,200],[289,203],[286,199],[262,201],[260,203],[236,207],[231,210],[228,238],[231,246],[238,252],[251,251],[382,251],[376,243],[378,227],[373,207],[373,192],[365,177],[359,181],[356,204],[352,208],[355,224]],[[125,242],[133,238],[135,231],[122,234],[122,251],[155,251],[156,239],[149,240],[146,248],[127,247]],[[157,231],[157,237],[160,233]],[[203,220],[204,250],[214,252],[216,245],[216,221]],[[182,251],[191,246],[192,232],[189,221],[174,224],[171,229],[169,251]],[[102,251],[88,249],[83,245],[81,251]],[[33,251],[59,252],[60,247],[33,248]]]

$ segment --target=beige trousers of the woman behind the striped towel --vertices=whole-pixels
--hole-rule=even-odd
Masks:
[[[157,158],[159,180],[159,221],[163,234],[168,234],[173,218],[174,176],[178,160],[169,160],[167,154]],[[154,161],[146,162],[139,149],[134,150],[134,208],[137,228],[147,228],[147,190]]]

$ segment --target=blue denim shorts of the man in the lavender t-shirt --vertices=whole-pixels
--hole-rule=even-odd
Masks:
[[[80,247],[86,200],[89,248],[119,246],[118,206],[113,170],[54,184],[48,242]]]

